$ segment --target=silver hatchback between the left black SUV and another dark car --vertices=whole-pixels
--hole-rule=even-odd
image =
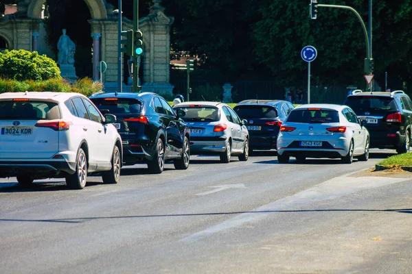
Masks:
[[[249,132],[238,114],[229,105],[218,102],[185,102],[174,105],[184,111],[183,121],[190,127],[192,155],[219,155],[228,163],[232,155],[240,161],[249,158]]]

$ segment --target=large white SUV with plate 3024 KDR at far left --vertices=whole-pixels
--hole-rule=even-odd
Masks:
[[[122,138],[84,95],[65,92],[0,94],[0,177],[66,178],[84,188],[87,175],[101,172],[103,182],[119,182]]]

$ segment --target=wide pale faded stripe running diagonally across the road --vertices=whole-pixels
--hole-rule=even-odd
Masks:
[[[247,222],[259,221],[275,211],[290,210],[291,208],[297,208],[309,203],[336,199],[368,188],[388,186],[390,184],[397,184],[407,180],[410,179],[393,177],[334,177],[308,190],[298,192],[290,197],[285,197],[261,206],[260,208],[256,208],[255,210],[251,210],[250,213],[239,214],[232,219],[183,238],[181,241],[194,242],[211,234],[222,232],[223,230],[229,228],[238,227]]]

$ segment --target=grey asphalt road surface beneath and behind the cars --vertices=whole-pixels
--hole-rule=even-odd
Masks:
[[[30,189],[0,179],[0,273],[412,273],[411,173],[367,162],[192,156]]]

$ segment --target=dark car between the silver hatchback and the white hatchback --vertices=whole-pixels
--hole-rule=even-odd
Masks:
[[[280,125],[293,108],[295,107],[292,103],[284,100],[253,99],[238,103],[233,110],[240,119],[247,120],[249,150],[276,149]]]

